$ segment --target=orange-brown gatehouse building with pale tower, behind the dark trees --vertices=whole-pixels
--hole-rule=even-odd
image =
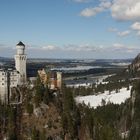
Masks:
[[[57,90],[62,86],[62,73],[51,71],[48,68],[38,70],[38,75],[44,85],[48,85],[49,89]]]

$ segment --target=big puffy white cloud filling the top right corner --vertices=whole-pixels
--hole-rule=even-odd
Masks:
[[[117,20],[139,20],[139,0],[114,0],[111,6],[112,17]]]

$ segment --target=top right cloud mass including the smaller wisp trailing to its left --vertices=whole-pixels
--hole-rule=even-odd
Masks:
[[[98,13],[110,10],[112,17],[116,20],[140,20],[140,0],[99,0],[99,2],[98,6],[83,9],[80,15],[92,17],[96,16]]]

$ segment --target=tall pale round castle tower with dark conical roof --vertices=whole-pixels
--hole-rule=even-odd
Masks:
[[[15,67],[20,74],[19,84],[26,82],[26,61],[27,55],[25,54],[25,45],[19,42],[16,45],[16,55],[15,55]]]

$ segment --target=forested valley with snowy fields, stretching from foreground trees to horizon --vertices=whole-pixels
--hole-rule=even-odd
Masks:
[[[2,59],[1,63],[1,68],[14,66],[14,61]],[[62,88],[58,91],[49,89],[48,84],[42,83],[39,76],[36,77],[34,84],[29,83],[20,87],[22,103],[15,102],[7,107],[2,103],[0,105],[1,110],[7,112],[6,116],[3,116],[3,113],[0,116],[6,118],[8,124],[0,125],[1,138],[11,140],[139,138],[139,133],[133,134],[139,124],[135,119],[138,115],[136,104],[137,100],[139,101],[139,97],[137,98],[139,77],[134,75],[136,71],[132,72],[131,66],[134,68],[134,63],[135,60],[131,59],[27,61],[27,75],[32,78],[43,68],[62,72]],[[12,98],[17,98],[17,95],[14,96]]]

